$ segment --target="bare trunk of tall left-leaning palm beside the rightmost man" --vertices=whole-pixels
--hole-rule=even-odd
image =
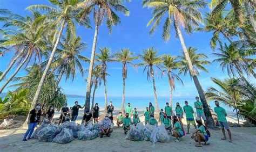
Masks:
[[[193,68],[192,62],[190,60],[190,56],[187,52],[187,48],[185,46],[184,39],[183,39],[183,36],[181,34],[176,16],[174,16],[174,22],[176,24],[176,30],[177,30],[178,35],[179,35],[179,40],[180,40],[181,46],[183,48],[183,52],[184,52],[184,55],[185,55],[185,58],[186,58],[186,61],[187,61],[188,68],[190,69],[190,74],[193,77],[194,84],[196,85],[200,100],[201,100],[201,102],[203,104],[203,107],[204,107],[204,110],[205,110],[205,117],[206,117],[207,126],[210,127],[210,128],[215,128],[216,126],[214,125],[214,121],[213,121],[213,118],[212,118],[213,112],[211,112],[212,110],[211,110],[211,107],[208,105],[208,102],[207,102],[206,97],[205,97],[204,90],[201,87],[201,84],[198,81],[197,75],[194,71],[194,68]]]

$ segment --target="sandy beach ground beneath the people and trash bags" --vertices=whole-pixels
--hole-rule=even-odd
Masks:
[[[82,119],[82,111],[78,117],[78,123]],[[118,113],[118,111],[114,112]],[[142,115],[142,114],[139,114]],[[55,118],[59,114],[55,115]],[[143,117],[140,117],[144,120]],[[231,118],[228,118],[230,121]],[[235,118],[232,118],[232,120]],[[184,121],[185,124],[185,121]],[[184,125],[186,131],[186,125]],[[228,140],[221,140],[221,131],[211,132],[208,142],[209,146],[194,147],[196,142],[191,139],[191,134],[182,137],[179,143],[174,142],[170,137],[169,143],[157,142],[153,145],[150,141],[129,141],[125,139],[122,128],[113,129],[111,137],[97,137],[90,141],[74,140],[66,144],[39,142],[31,139],[23,142],[22,138],[26,128],[0,130],[0,151],[255,151],[256,149],[256,128],[231,128],[233,143]],[[191,126],[191,132],[194,128]]]

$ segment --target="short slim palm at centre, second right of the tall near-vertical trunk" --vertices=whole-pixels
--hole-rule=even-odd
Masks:
[[[133,68],[136,69],[136,65],[132,63],[132,61],[138,59],[137,56],[133,56],[134,52],[130,52],[130,49],[124,48],[120,49],[119,52],[117,52],[114,57],[115,59],[123,64],[122,69],[122,77],[123,77],[123,96],[122,96],[122,107],[121,111],[124,113],[124,98],[125,98],[125,79],[127,78],[127,64],[130,64],[133,66]]]

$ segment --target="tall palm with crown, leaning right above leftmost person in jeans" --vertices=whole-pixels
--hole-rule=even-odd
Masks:
[[[48,70],[51,66],[53,57],[55,55],[55,52],[57,50],[59,41],[60,41],[60,37],[62,35],[62,32],[64,30],[64,27],[66,26],[66,35],[68,37],[70,37],[70,35],[73,35],[73,37],[75,37],[75,23],[73,22],[73,20],[79,21],[79,25],[83,25],[86,27],[90,27],[88,22],[89,19],[87,18],[87,16],[83,16],[83,18],[78,18],[77,15],[77,6],[79,4],[79,0],[53,0],[53,1],[49,1],[53,6],[56,6],[57,8],[53,8],[52,6],[48,6],[48,5],[31,5],[26,9],[29,10],[44,10],[47,11],[47,16],[49,18],[54,19],[53,23],[54,25],[57,25],[56,28],[56,34],[57,35],[57,39],[55,40],[55,38],[53,39],[53,41],[55,42],[55,45],[53,46],[51,55],[49,57],[48,63],[45,67],[43,76],[41,78],[41,81],[38,85],[35,97],[33,98],[33,102],[31,107],[35,107],[37,102],[38,102],[38,97],[41,93],[42,90],[42,86],[44,83],[44,80],[46,78],[46,75],[48,73]],[[58,28],[60,27],[60,30],[58,31]],[[58,31],[58,32],[57,32]]]

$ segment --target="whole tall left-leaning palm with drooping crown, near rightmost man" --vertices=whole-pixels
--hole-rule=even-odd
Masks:
[[[193,77],[194,84],[196,85],[199,97],[203,103],[203,107],[206,112],[207,124],[209,127],[214,127],[214,121],[204,95],[204,90],[200,85],[196,72],[194,71],[190,56],[188,55],[187,48],[185,46],[183,35],[180,31],[180,26],[183,26],[186,33],[191,33],[192,27],[198,26],[198,22],[202,22],[201,13],[198,9],[205,8],[205,5],[206,3],[204,1],[143,0],[144,7],[147,6],[148,8],[154,8],[153,18],[147,24],[147,26],[149,26],[152,22],[154,22],[150,29],[150,34],[156,30],[156,27],[160,24],[161,18],[166,17],[163,26],[162,38],[167,41],[170,39],[170,28],[171,23],[173,23],[176,35],[180,39],[191,76]],[[166,13],[167,16],[165,15]]]

